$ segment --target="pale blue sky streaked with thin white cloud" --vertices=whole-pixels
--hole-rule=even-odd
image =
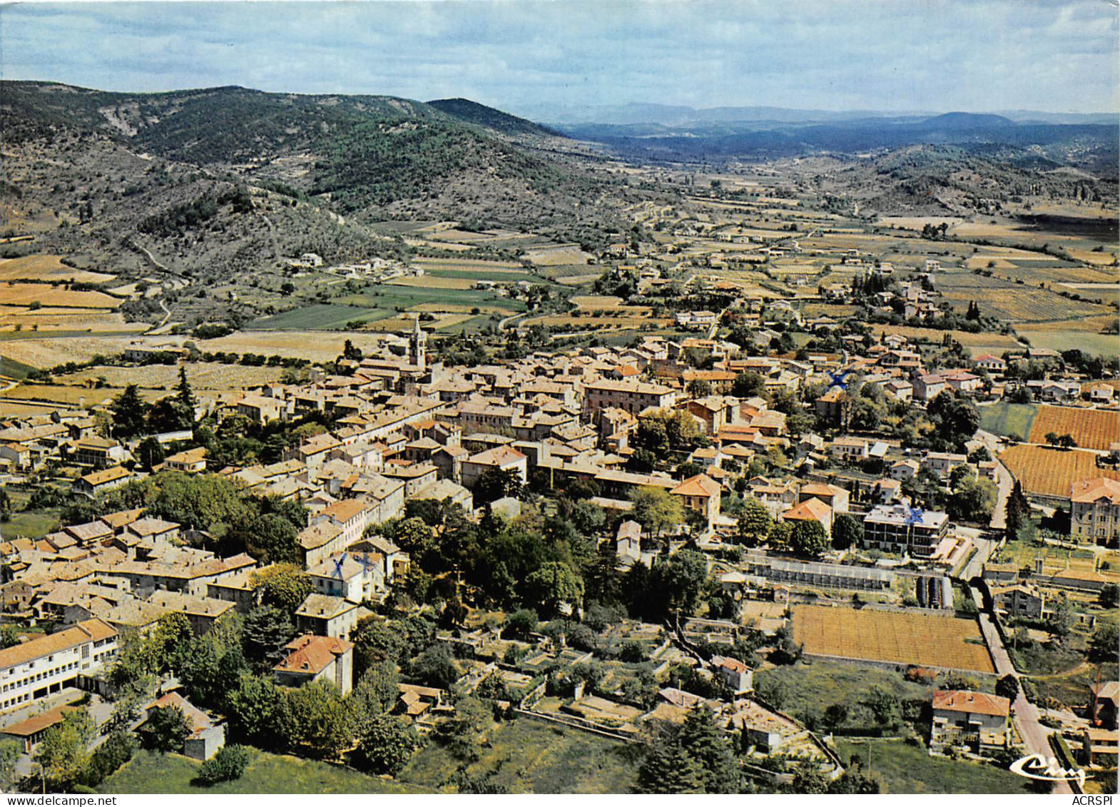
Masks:
[[[1120,111],[1116,0],[0,6],[0,76],[549,105]]]

